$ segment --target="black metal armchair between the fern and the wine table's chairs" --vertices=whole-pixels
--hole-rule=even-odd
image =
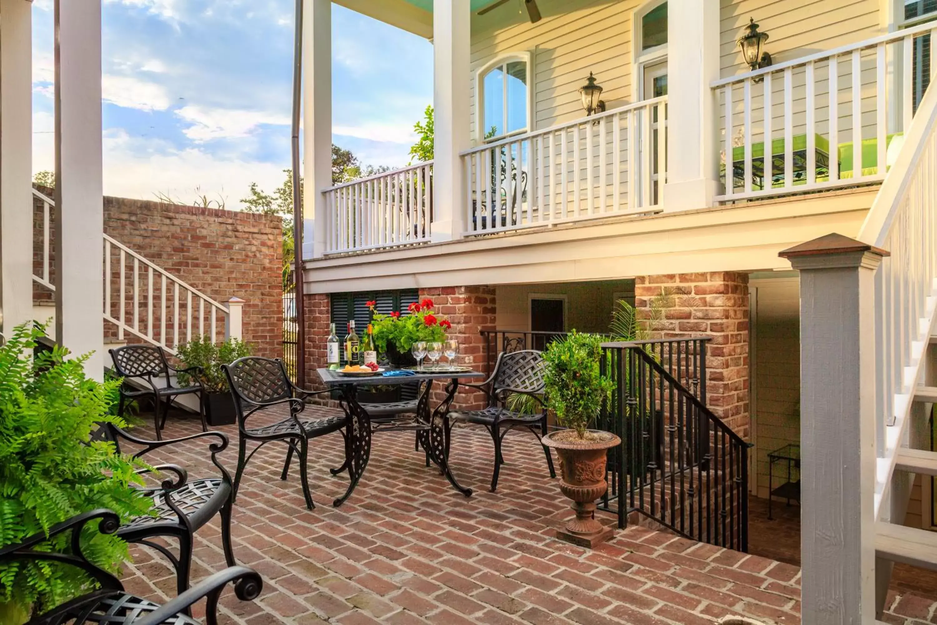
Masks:
[[[235,566],[234,551],[231,548],[231,506],[233,505],[234,487],[231,474],[218,460],[220,454],[228,448],[228,437],[214,430],[201,432],[181,439],[147,440],[138,439],[114,424],[100,424],[92,439],[109,440],[120,450],[122,442],[138,445],[142,449],[133,454],[140,458],[157,449],[173,444],[196,439],[217,439],[208,445],[212,464],[219,472],[218,477],[190,480],[188,472],[176,465],[156,467],[173,473],[175,481],[166,480],[159,487],[144,488],[144,493],[153,498],[155,515],[143,515],[132,519],[117,529],[117,535],[127,543],[140,543],[156,549],[170,560],[176,572],[176,590],[181,594],[186,591],[192,570],[192,551],[195,532],[215,517],[221,516],[221,547],[228,566]],[[144,469],[141,472],[146,472]],[[158,537],[171,537],[179,541],[179,556],[173,556],[163,544],[152,541]]]

